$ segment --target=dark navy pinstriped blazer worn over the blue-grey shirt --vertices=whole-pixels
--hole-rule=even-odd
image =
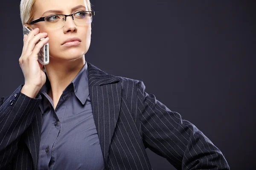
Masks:
[[[189,121],[145,92],[142,81],[116,77],[88,64],[93,117],[106,170],[152,169],[145,148],[178,170],[229,170],[221,151]],[[37,167],[41,96],[0,98],[0,169]]]

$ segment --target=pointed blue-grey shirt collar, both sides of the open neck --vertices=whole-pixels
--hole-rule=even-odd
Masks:
[[[76,77],[70,82],[73,84],[74,92],[76,97],[80,100],[80,102],[84,105],[87,97],[89,96],[89,82],[88,82],[88,65],[85,61],[84,66],[81,68]],[[68,86],[70,86],[70,84]],[[68,87],[67,86],[67,87]],[[47,93],[50,88],[50,82],[46,74],[46,82],[40,90],[40,93]]]

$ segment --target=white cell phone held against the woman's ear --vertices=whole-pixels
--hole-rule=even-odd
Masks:
[[[30,27],[23,27],[23,36],[25,34],[29,34],[30,31],[32,31],[33,29]],[[38,42],[40,42],[41,40],[44,40],[44,38],[41,38]],[[49,64],[49,43],[47,42],[39,51],[38,53],[38,62],[40,62],[42,65],[47,65]]]

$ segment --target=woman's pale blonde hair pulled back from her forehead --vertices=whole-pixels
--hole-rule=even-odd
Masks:
[[[20,1],[20,19],[22,26],[29,24],[35,14],[35,1],[36,0],[21,0]],[[88,11],[91,11],[90,0],[84,0]]]

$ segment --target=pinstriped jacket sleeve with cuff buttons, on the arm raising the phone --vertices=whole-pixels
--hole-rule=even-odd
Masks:
[[[12,161],[20,136],[31,124],[41,95],[30,98],[22,94],[20,85],[9,97],[0,98],[0,169]]]

